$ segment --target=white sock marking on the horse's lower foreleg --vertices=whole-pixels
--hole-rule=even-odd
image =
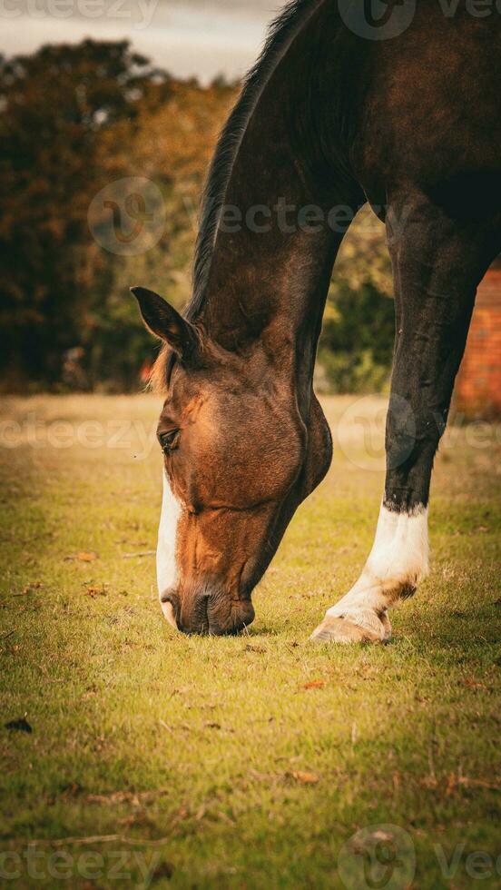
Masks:
[[[387,609],[406,593],[413,593],[427,571],[427,509],[395,513],[382,506],[365,568],[349,593],[328,609],[327,624],[329,618],[342,618],[367,630],[371,638],[388,639]],[[314,631],[314,638],[327,638],[326,622]],[[341,638],[339,621],[336,627],[333,638]]]

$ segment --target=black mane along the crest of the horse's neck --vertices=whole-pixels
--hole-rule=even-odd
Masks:
[[[195,318],[203,305],[221,209],[233,163],[251,114],[281,55],[321,2],[322,0],[291,0],[270,25],[260,57],[247,74],[241,96],[222,130],[201,203],[201,223],[193,267],[193,296],[185,313],[187,318]]]

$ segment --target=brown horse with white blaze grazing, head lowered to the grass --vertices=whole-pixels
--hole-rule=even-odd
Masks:
[[[427,573],[434,455],[476,287],[501,250],[501,15],[463,0],[369,6],[287,6],[211,164],[192,301],[180,315],[133,288],[164,341],[157,573],[186,633],[251,623],[252,588],[329,469],[313,367],[339,244],[366,202],[395,282],[387,477],[366,566],[312,638],[387,640],[388,608]]]

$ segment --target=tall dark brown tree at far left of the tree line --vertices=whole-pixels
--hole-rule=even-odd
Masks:
[[[93,287],[89,203],[103,132],[168,79],[126,42],[0,58],[0,323],[4,373],[52,385],[78,344]]]

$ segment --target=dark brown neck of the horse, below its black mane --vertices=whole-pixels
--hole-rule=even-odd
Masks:
[[[327,222],[353,187],[310,134],[309,53],[301,35],[262,90],[231,164],[198,320],[230,351],[266,350],[277,371],[310,381],[343,232]],[[342,184],[341,184],[342,183]],[[351,191],[350,191],[351,189]],[[308,222],[313,225],[308,225]]]

